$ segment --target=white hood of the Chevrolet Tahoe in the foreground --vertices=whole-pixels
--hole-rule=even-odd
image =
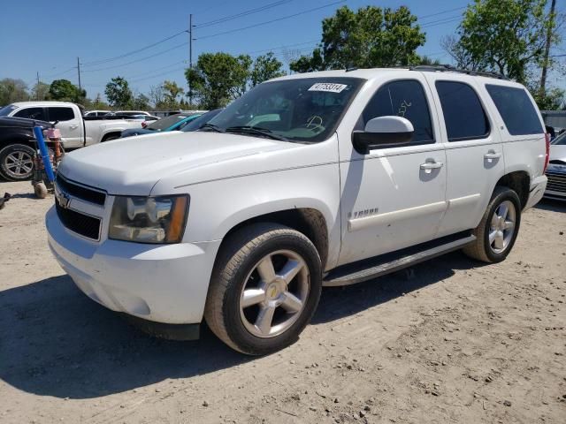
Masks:
[[[65,155],[58,171],[111,194],[145,196],[162,178],[174,181],[173,186],[195,184],[210,177],[199,170],[218,164],[222,166],[214,166],[214,177],[225,178],[255,171],[269,152],[294,148],[305,146],[225,133],[157,133],[80,148]],[[241,158],[249,156],[258,159],[242,164]],[[226,166],[234,162],[239,167]]]

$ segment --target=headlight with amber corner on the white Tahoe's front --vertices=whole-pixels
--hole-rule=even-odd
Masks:
[[[188,196],[117,196],[109,239],[139,243],[179,243],[187,222]]]

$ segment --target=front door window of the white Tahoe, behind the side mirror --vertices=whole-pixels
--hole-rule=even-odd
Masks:
[[[397,116],[409,119],[415,128],[412,142],[434,142],[431,112],[420,82],[412,79],[393,81],[379,87],[362,113],[363,125],[374,117]]]

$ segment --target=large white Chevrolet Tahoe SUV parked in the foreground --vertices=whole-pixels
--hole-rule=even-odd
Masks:
[[[322,286],[457,249],[503,261],[545,191],[548,140],[528,91],[492,74],[294,74],[198,132],[66,155],[49,246],[149,332],[198,337],[205,319],[265,354],[296,340]]]

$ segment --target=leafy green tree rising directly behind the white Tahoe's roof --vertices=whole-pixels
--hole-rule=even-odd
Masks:
[[[425,36],[406,6],[338,9],[322,21],[322,42],[310,56],[290,64],[294,72],[417,64]]]

